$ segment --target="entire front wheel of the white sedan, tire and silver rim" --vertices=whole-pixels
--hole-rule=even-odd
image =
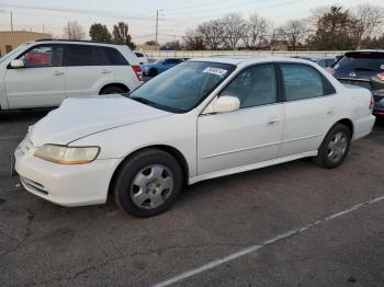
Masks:
[[[155,216],[169,209],[182,187],[178,161],[159,149],[148,149],[128,158],[114,185],[118,207],[137,217]]]

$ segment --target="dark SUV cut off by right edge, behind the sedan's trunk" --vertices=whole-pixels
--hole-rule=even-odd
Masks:
[[[373,114],[384,116],[384,50],[348,51],[332,69],[331,73],[340,82],[372,91]]]

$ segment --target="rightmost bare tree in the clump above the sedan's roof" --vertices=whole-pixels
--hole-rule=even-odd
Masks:
[[[245,24],[242,41],[247,48],[258,49],[267,44],[267,34],[271,24],[267,19],[259,16],[257,13],[251,14]]]

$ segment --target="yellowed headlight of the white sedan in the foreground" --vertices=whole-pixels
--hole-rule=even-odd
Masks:
[[[59,164],[84,164],[98,157],[99,147],[66,147],[57,145],[44,145],[34,156]]]

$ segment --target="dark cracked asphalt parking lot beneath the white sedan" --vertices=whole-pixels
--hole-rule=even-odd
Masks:
[[[9,176],[45,113],[0,114],[0,286],[384,286],[383,123],[337,170],[300,160],[212,180],[137,219],[112,202],[55,206]]]

